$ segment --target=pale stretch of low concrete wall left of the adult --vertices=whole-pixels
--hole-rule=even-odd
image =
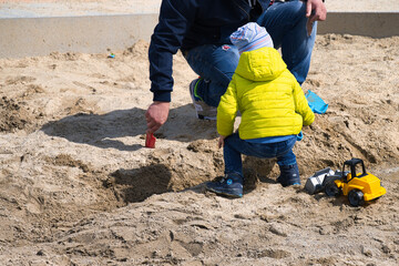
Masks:
[[[150,40],[158,14],[0,19],[0,58],[102,53]]]

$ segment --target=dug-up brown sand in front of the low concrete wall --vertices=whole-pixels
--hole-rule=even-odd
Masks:
[[[274,160],[245,157],[238,200],[204,191],[223,153],[215,122],[194,116],[196,75],[180,53],[156,149],[144,147],[145,41],[0,59],[0,264],[398,265],[398,47],[399,37],[318,35],[303,89],[329,108],[295,146],[303,185],[284,188]],[[304,190],[351,157],[386,195],[352,207]]]

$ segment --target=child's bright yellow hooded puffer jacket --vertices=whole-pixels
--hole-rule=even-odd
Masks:
[[[237,111],[243,140],[298,134],[315,120],[305,94],[278,51],[243,52],[217,108],[217,132],[233,133]]]

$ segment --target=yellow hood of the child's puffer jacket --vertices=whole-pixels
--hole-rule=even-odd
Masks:
[[[279,76],[287,65],[274,48],[243,52],[236,73],[252,81],[270,81]]]

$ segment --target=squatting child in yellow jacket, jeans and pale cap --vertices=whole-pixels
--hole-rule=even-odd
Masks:
[[[287,70],[265,28],[255,22],[231,35],[238,48],[239,62],[217,108],[219,147],[224,147],[225,177],[208,182],[206,188],[231,197],[243,196],[242,154],[277,157],[283,186],[299,185],[299,171],[293,147],[303,124],[315,120],[305,94]],[[237,111],[238,132],[233,133]]]

